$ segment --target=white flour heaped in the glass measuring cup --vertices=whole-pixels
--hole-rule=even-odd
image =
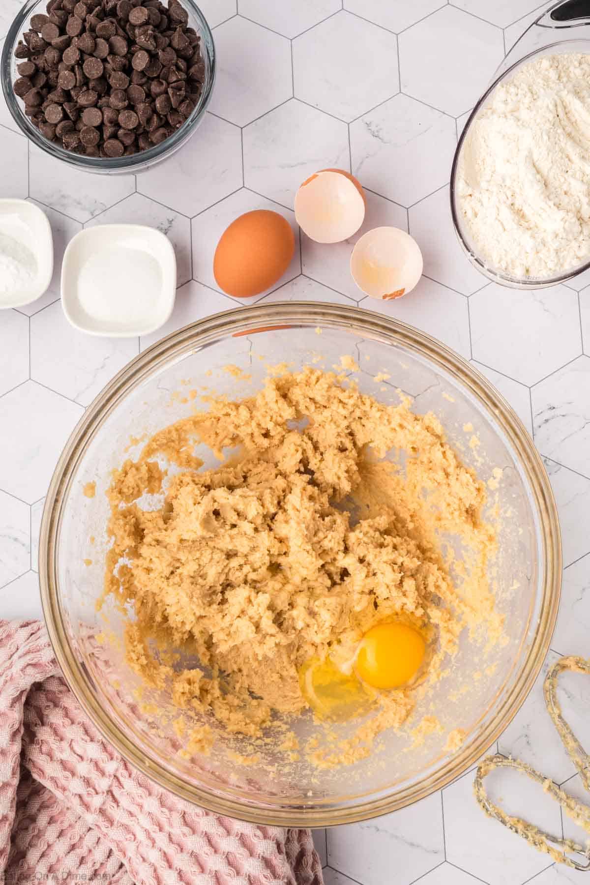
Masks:
[[[590,258],[590,56],[536,59],[495,89],[457,172],[465,233],[495,270],[548,277]]]

